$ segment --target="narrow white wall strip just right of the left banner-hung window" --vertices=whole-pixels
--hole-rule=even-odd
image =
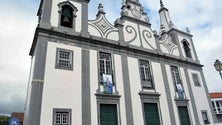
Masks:
[[[126,104],[125,104],[125,95],[124,95],[124,83],[123,83],[123,72],[122,72],[122,62],[120,55],[114,55],[114,65],[115,65],[115,73],[116,73],[116,86],[117,91],[119,91],[120,97],[120,118],[121,125],[126,125]]]

